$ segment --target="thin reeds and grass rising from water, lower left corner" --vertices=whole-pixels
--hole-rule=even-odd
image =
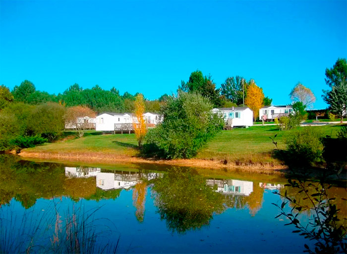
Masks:
[[[86,211],[81,201],[62,210],[55,199],[38,212],[35,206],[22,216],[11,205],[0,207],[1,254],[116,253],[116,227],[108,219],[95,218],[102,207]]]

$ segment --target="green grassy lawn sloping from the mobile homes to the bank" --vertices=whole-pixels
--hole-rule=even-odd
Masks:
[[[298,127],[310,128],[310,127]],[[335,137],[339,125],[326,125],[311,127],[319,130],[323,135]],[[206,147],[197,154],[196,158],[202,159],[227,159],[239,162],[277,162],[272,157],[271,151],[275,149],[269,137],[277,134],[276,141],[281,149],[285,148],[284,140],[291,135],[291,131],[279,131],[277,126],[257,126],[248,129],[233,129],[222,131]],[[94,133],[95,134],[95,133]],[[135,156],[138,154],[137,141],[134,134],[116,135],[89,135],[81,139],[65,140],[56,143],[45,144],[27,149],[28,152],[49,153],[104,153],[114,156]]]

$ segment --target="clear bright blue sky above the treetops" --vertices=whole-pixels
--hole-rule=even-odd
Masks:
[[[58,94],[74,83],[149,99],[199,69],[217,87],[253,78],[273,104],[300,81],[321,99],[347,57],[347,1],[0,0],[0,84]]]

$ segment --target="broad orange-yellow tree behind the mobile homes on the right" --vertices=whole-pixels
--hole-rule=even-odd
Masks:
[[[259,109],[264,105],[263,89],[258,87],[254,80],[251,79],[248,84],[245,104],[253,110],[254,120],[259,116]]]

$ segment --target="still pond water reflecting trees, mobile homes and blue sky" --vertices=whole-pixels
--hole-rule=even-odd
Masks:
[[[283,201],[275,192],[303,198],[286,183],[266,175],[2,156],[0,251],[303,253],[314,242],[292,233],[285,217],[275,218],[280,210],[272,203]],[[329,195],[346,218],[346,188],[334,186]],[[308,224],[311,216],[298,219]]]

